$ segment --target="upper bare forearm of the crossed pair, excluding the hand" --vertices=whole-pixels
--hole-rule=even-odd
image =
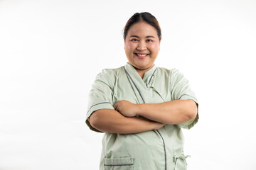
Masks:
[[[164,103],[137,105],[137,115],[165,124],[186,123],[196,118],[197,106],[193,100],[176,100]]]

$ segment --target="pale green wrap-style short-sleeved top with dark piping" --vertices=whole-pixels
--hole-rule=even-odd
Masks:
[[[177,69],[164,69],[154,65],[143,79],[131,64],[117,69],[104,69],[97,75],[89,94],[86,123],[99,109],[114,109],[114,103],[127,100],[132,103],[162,103],[192,99],[198,103],[188,81]],[[156,113],[157,114],[157,113]],[[105,132],[102,140],[100,170],[171,170],[186,169],[181,128],[190,129],[196,118],[178,125],[164,125],[159,130],[134,134]]]

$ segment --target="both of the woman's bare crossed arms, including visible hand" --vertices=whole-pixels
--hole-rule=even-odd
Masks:
[[[143,104],[118,101],[114,104],[114,109],[101,109],[92,113],[92,127],[102,132],[129,134],[157,130],[165,124],[186,123],[196,118],[197,114],[197,106],[193,100]]]

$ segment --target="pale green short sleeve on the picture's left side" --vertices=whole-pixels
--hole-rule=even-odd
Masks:
[[[113,89],[110,79],[107,78],[105,70],[98,74],[89,94],[89,103],[87,108],[85,123],[91,130],[100,132],[90,125],[90,115],[100,109],[114,109],[112,103]]]

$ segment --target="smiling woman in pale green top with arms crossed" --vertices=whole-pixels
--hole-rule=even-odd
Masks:
[[[161,29],[150,13],[124,27],[128,63],[104,69],[90,91],[86,123],[105,132],[100,169],[186,169],[181,128],[198,121],[197,100],[177,69],[156,67]]]

